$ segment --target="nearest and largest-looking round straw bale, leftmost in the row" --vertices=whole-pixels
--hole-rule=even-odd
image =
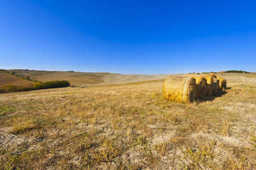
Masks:
[[[162,88],[166,100],[191,103],[197,98],[196,79],[191,77],[167,77]]]

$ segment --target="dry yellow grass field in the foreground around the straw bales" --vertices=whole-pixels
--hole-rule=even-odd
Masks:
[[[0,94],[0,169],[256,169],[256,76],[221,76],[191,104],[164,79]]]

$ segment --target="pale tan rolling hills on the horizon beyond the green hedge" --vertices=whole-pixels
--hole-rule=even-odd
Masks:
[[[91,73],[91,72],[60,72],[60,71],[38,71],[28,69],[10,69],[8,72],[16,72],[19,77],[29,76],[32,80],[52,81],[67,80],[71,85],[95,86],[106,84],[124,84],[139,81],[150,81],[155,79],[165,79],[169,74],[112,74],[112,73]]]

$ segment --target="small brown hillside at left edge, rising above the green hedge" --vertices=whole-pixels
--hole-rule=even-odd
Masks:
[[[33,81],[26,81],[6,72],[0,71],[0,88],[4,85],[33,86]]]

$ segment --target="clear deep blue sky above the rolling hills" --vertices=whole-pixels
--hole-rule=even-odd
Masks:
[[[0,68],[256,72],[256,1],[0,1]]]

